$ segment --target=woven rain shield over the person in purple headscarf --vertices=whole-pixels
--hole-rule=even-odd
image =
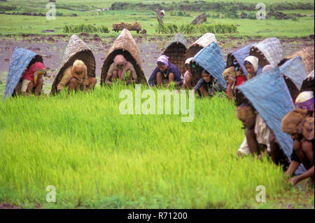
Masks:
[[[187,42],[183,34],[175,34],[172,41],[167,45],[167,48],[162,54],[169,57],[169,62],[176,65],[179,71],[183,75],[186,72],[185,68],[185,53],[187,50]]]

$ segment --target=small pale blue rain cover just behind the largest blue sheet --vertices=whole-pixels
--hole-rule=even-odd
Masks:
[[[303,80],[307,76],[305,72],[304,63],[302,58],[297,56],[291,60],[288,60],[280,67],[281,74],[288,76],[293,83],[300,89],[303,83]]]

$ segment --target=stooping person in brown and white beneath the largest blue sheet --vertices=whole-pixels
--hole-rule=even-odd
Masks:
[[[239,156],[242,154],[260,155],[263,151],[269,152],[270,129],[260,114],[248,102],[243,102],[237,107],[235,114],[245,128],[245,139],[237,154]]]

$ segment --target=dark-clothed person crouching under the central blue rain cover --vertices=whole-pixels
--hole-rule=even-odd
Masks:
[[[199,92],[203,97],[213,97],[217,92],[221,92],[223,88],[206,69],[203,69],[202,78],[197,82],[193,90]]]

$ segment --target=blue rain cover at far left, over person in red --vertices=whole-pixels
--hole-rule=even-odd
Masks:
[[[12,95],[23,72],[25,71],[25,68],[36,55],[37,54],[31,50],[27,50],[25,48],[15,48],[8,70],[8,79],[6,80],[6,88],[4,89],[3,99]]]

